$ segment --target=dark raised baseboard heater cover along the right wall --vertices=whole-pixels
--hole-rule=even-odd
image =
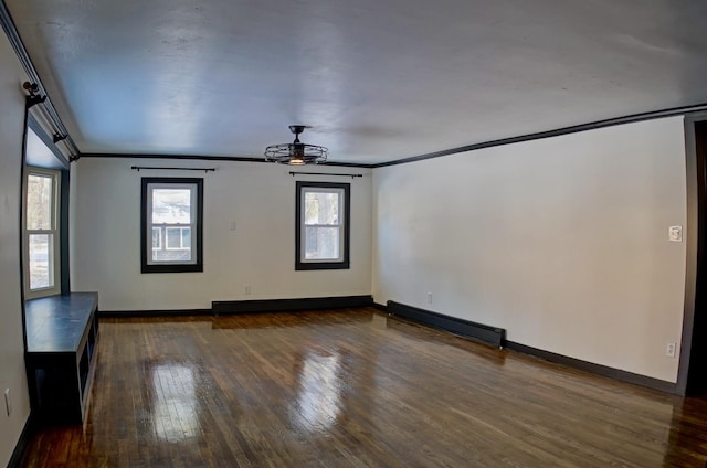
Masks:
[[[388,313],[413,320],[433,328],[439,328],[472,340],[482,341],[496,348],[503,348],[506,330],[488,325],[476,323],[456,317],[445,316],[404,304],[388,301]]]

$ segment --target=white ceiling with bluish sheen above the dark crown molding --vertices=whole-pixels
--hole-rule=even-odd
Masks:
[[[4,0],[84,153],[378,163],[707,103],[704,0]]]

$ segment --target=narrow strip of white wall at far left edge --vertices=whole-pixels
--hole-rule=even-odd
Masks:
[[[27,78],[4,34],[0,34],[0,466],[7,466],[30,401],[24,373],[20,289],[20,181]],[[7,416],[2,393],[10,389]]]

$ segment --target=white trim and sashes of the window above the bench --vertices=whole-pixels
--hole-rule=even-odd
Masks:
[[[51,213],[51,228],[49,230],[29,230],[27,227],[27,202],[28,202],[28,189],[30,176],[40,176],[52,178],[52,213]],[[23,268],[23,287],[25,299],[36,299],[40,297],[54,296],[61,294],[62,278],[61,278],[61,230],[60,230],[60,201],[61,201],[61,173],[60,171],[52,169],[42,169],[31,166],[25,166],[24,178],[22,189],[22,268]],[[30,288],[30,235],[32,234],[50,234],[52,235],[53,243],[51,248],[53,270],[52,276],[54,285],[46,288]]]

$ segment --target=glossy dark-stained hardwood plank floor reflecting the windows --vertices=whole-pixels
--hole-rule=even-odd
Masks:
[[[373,309],[103,319],[85,427],[25,466],[704,467],[707,400]]]

